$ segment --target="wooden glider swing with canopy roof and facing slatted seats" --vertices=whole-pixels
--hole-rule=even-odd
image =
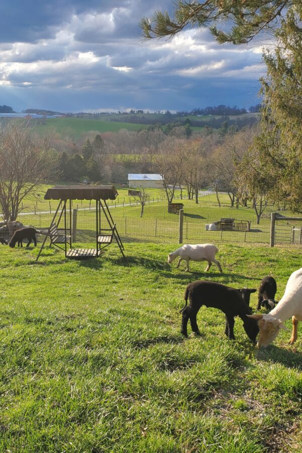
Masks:
[[[39,250],[36,261],[38,261],[41,252],[50,238],[50,247],[53,245],[64,250],[66,258],[87,259],[97,258],[115,239],[121,254],[125,258],[124,246],[118,234],[116,224],[108,208],[107,200],[115,200],[118,192],[114,186],[55,186],[48,189],[45,200],[59,200],[58,207],[50,223],[47,234]],[[67,201],[69,200],[69,229],[67,229]],[[71,201],[72,200],[95,200],[96,202],[96,248],[94,249],[77,249],[72,248],[72,231],[71,231]],[[60,211],[60,213],[59,213]],[[59,213],[58,220],[56,217]],[[101,228],[101,213],[104,214],[109,228]],[[64,228],[59,228],[61,218],[64,218]],[[68,247],[67,247],[68,245]]]

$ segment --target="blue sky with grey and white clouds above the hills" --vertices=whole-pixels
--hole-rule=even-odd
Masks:
[[[259,103],[260,46],[219,45],[200,29],[142,41],[139,19],[171,3],[2,0],[0,105],[174,112]]]

